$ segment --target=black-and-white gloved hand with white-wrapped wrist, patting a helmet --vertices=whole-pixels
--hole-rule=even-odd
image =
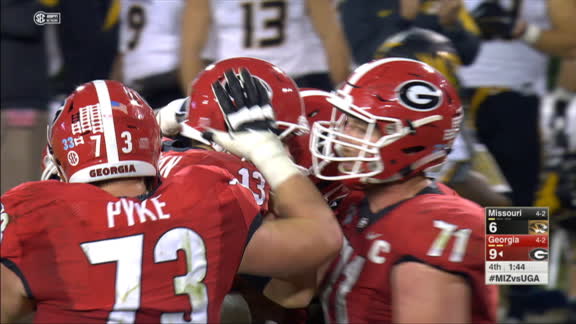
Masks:
[[[268,93],[261,81],[246,69],[242,69],[240,75],[228,70],[225,77],[226,89],[220,82],[215,82],[212,90],[228,132],[211,129],[204,137],[254,163],[274,189],[299,171],[276,135],[276,120]]]

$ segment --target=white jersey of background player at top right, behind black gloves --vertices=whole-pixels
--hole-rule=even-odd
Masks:
[[[480,0],[464,1],[473,10]],[[501,0],[510,8],[512,1]],[[519,16],[530,24],[548,29],[546,0],[521,1]],[[546,86],[548,56],[521,40],[492,40],[482,42],[478,58],[468,67],[460,69],[462,83],[467,87],[506,87],[531,90],[543,94]]]

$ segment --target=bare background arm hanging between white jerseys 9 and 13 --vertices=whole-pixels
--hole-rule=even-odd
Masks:
[[[182,16],[180,87],[188,93],[190,82],[204,68],[202,50],[210,32],[210,0],[188,0]]]

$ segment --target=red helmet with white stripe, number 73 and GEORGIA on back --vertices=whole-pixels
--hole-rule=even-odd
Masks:
[[[160,128],[152,108],[117,81],[76,88],[49,127],[48,140],[66,182],[157,175]]]

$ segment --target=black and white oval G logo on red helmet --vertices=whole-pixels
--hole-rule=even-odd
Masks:
[[[400,103],[412,110],[429,111],[438,108],[442,103],[440,89],[425,81],[405,82],[397,92]]]

